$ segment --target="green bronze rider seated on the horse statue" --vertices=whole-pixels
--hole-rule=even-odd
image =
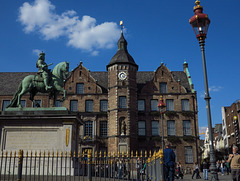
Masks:
[[[38,73],[40,74],[40,76],[43,77],[45,89],[47,91],[52,89],[52,86],[49,85],[49,79],[50,79],[51,75],[50,75],[50,70],[48,69],[48,66],[49,65],[47,65],[45,62],[45,53],[41,52],[39,54],[39,58],[36,63],[36,67],[38,68]]]

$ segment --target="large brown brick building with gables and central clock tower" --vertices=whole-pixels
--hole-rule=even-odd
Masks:
[[[9,104],[20,81],[32,72],[0,73],[0,109]],[[188,64],[183,71],[170,71],[163,63],[152,72],[138,72],[128,53],[123,33],[118,50],[106,72],[91,72],[80,62],[65,82],[67,98],[57,106],[81,115],[79,150],[149,151],[161,148],[161,115],[158,101],[163,96],[164,140],[172,143],[177,161],[192,164],[198,157],[197,96]],[[32,107],[29,95],[22,97],[23,107]],[[42,107],[52,105],[46,94],[35,99]],[[144,152],[143,152],[144,153]]]

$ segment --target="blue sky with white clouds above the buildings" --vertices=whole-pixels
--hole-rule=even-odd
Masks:
[[[91,71],[106,71],[117,50],[120,20],[129,53],[139,71],[164,62],[182,71],[186,60],[198,94],[199,127],[207,127],[202,58],[189,24],[195,0],[1,0],[0,72],[34,72],[38,53],[55,65],[80,61]],[[211,24],[206,61],[213,125],[221,107],[239,99],[239,0],[202,0]]]

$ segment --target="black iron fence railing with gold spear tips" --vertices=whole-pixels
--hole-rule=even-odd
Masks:
[[[163,179],[163,152],[1,152],[1,180],[81,181]]]

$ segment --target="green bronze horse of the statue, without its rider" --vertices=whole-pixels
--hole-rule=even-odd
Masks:
[[[63,92],[63,98],[60,101],[64,101],[66,98],[66,90],[63,89],[63,85],[64,85],[64,81],[68,78],[68,76],[69,76],[69,63],[61,62],[57,64],[51,73],[51,79],[49,81],[49,84],[52,85],[52,89],[49,91],[45,89],[43,78],[40,75],[26,76],[18,86],[18,90],[14,94],[7,108],[8,107],[21,108],[22,107],[20,103],[21,97],[28,92],[30,93],[29,99],[33,101],[34,105],[37,105],[34,100],[34,96],[38,92],[50,93],[50,95],[54,97],[54,106],[55,106],[57,96],[60,92]]]

